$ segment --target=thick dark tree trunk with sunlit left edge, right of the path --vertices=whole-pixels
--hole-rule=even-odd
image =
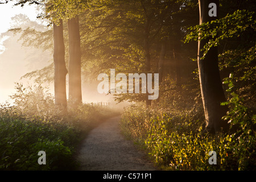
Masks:
[[[217,19],[217,16],[209,16],[209,3],[217,5],[217,16],[219,9],[218,0],[199,0],[200,24],[210,22]],[[199,35],[200,36],[200,35]],[[218,49],[217,47],[210,48],[204,59],[201,49],[208,40],[199,40],[197,63],[199,68],[199,78],[201,87],[201,96],[203,100],[206,132],[216,133],[223,129],[228,130],[228,123],[222,121],[222,117],[228,110],[226,106],[221,106],[221,102],[225,101],[225,95],[221,84],[220,72],[218,69]]]

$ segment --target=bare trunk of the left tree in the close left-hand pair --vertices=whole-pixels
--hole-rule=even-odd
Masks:
[[[60,25],[53,24],[53,61],[54,61],[54,89],[55,104],[61,109],[67,110],[65,46],[63,39],[63,22]]]

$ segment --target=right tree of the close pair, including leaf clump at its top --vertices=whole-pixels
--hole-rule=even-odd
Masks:
[[[52,21],[63,19],[68,24],[69,61],[68,61],[68,99],[71,107],[82,104],[81,92],[81,41],[79,28],[79,14],[86,7],[83,1],[67,2],[49,1],[48,12],[53,12]]]

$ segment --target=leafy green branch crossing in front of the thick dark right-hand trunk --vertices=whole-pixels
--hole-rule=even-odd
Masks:
[[[203,55],[205,56],[211,47],[219,46],[222,40],[239,37],[248,31],[255,31],[255,25],[254,12],[237,10],[224,18],[188,28],[190,32],[185,37],[184,42],[211,38],[203,48]]]

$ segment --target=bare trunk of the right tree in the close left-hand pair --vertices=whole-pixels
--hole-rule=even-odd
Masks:
[[[72,107],[82,104],[81,92],[81,46],[79,17],[68,20],[69,63],[68,63],[68,98]]]

